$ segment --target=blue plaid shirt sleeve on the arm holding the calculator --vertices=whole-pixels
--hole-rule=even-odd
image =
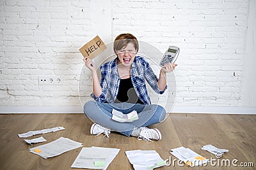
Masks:
[[[144,60],[145,61],[145,60]],[[150,85],[150,87],[157,93],[157,94],[163,94],[165,92],[165,90],[167,89],[167,85],[164,88],[164,90],[160,90],[158,87],[158,78],[156,76],[156,74],[154,73],[154,71],[152,70],[152,68],[150,67],[149,63],[147,61],[145,61],[145,79],[147,80],[148,84]]]

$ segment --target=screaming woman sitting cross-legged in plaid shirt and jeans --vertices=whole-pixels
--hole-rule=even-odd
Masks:
[[[132,34],[117,36],[113,48],[117,57],[102,64],[100,81],[92,60],[88,57],[83,59],[85,66],[93,74],[91,96],[95,101],[84,104],[84,113],[96,122],[90,133],[104,133],[108,136],[111,131],[116,131],[147,141],[161,139],[158,129],[148,129],[147,126],[163,121],[166,112],[163,107],[150,103],[145,81],[155,92],[163,94],[167,89],[166,73],[173,71],[177,64],[165,64],[157,78],[148,62],[143,57],[136,56],[139,45]],[[124,114],[136,110],[139,119],[133,122],[116,122],[112,119],[113,110]]]

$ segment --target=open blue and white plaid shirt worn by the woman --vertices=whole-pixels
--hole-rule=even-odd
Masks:
[[[114,60],[102,64],[100,70],[100,86],[102,87],[102,94],[100,94],[99,97],[91,94],[91,97],[100,103],[114,103],[120,85],[120,76],[117,70],[117,57]],[[151,104],[145,80],[147,80],[150,87],[158,94],[163,94],[167,89],[167,85],[163,91],[159,89],[156,74],[154,74],[148,62],[140,56],[136,56],[132,62],[131,80],[137,96],[144,104]]]

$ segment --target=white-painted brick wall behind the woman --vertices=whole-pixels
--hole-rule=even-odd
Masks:
[[[1,1],[0,106],[80,106],[80,73],[88,86],[80,90],[82,103],[90,99],[92,76],[83,67],[79,48],[97,34],[108,43],[123,32],[161,52],[169,45],[180,47],[176,106],[245,106],[241,89],[249,4]],[[38,85],[38,76],[43,75],[60,75],[63,85]],[[255,107],[255,101],[249,106]]]

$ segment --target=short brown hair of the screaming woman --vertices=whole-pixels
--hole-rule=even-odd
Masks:
[[[124,46],[127,46],[128,43],[133,43],[134,48],[136,48],[137,52],[139,50],[139,43],[135,36],[129,33],[120,34],[116,37],[114,41],[114,52],[117,50],[121,50]]]

